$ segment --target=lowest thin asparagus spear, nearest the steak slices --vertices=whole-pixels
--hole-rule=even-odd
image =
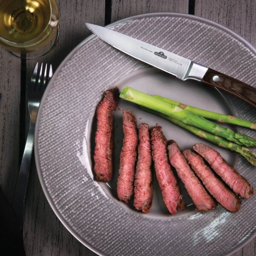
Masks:
[[[227,140],[225,140],[221,137],[218,137],[214,134],[211,134],[207,131],[204,131],[200,128],[197,128],[193,125],[187,125],[184,122],[182,122],[178,119],[175,119],[171,116],[167,116],[167,115],[159,113],[157,111],[153,111],[149,108],[142,107],[142,109],[144,111],[149,112],[149,113],[152,113],[152,114],[155,114],[157,116],[163,117],[163,118],[173,122],[175,125],[179,125],[180,127],[192,132],[193,134],[195,134],[196,136],[198,136],[198,137],[200,137],[204,140],[207,140],[211,143],[214,143],[214,144],[216,144],[216,145],[218,145],[222,148],[228,148],[232,151],[236,151],[239,154],[241,154],[243,157],[245,157],[246,160],[249,161],[252,165],[256,166],[256,154],[254,154],[253,151],[249,151],[248,148],[244,148],[242,146],[237,145],[236,143],[232,143],[230,141],[227,141]]]

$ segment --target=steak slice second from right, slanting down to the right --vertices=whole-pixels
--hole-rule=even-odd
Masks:
[[[204,163],[203,158],[190,149],[184,150],[183,156],[202,180],[209,193],[228,211],[238,212],[241,207],[241,200],[214,175]]]

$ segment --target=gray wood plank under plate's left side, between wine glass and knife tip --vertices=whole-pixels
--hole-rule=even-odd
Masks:
[[[105,21],[105,0],[58,0],[57,2],[61,14],[60,37],[52,52],[39,59],[39,61],[51,62],[53,70],[89,35],[89,31],[84,26],[85,22],[104,25]],[[27,83],[36,61],[27,61]],[[67,231],[52,211],[41,189],[35,163],[32,164],[29,177],[23,239],[27,255],[95,255]]]

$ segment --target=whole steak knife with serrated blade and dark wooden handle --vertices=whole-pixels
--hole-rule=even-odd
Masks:
[[[193,79],[227,91],[256,108],[256,89],[242,81],[112,29],[90,23],[85,24],[105,43],[140,61],[166,71],[178,79]]]

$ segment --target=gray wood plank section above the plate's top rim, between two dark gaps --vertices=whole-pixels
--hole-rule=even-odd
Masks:
[[[188,13],[189,0],[113,0],[111,22],[147,12]]]

